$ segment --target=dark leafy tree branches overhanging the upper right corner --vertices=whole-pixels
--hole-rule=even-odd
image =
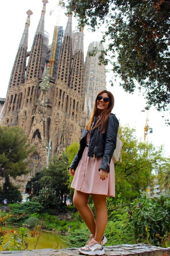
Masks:
[[[101,42],[107,46],[100,60],[113,64],[126,92],[133,93],[137,81],[147,99],[146,109],[151,105],[158,111],[169,109],[168,0],[69,0],[67,9],[79,17],[80,26],[89,25],[95,31],[104,24]]]

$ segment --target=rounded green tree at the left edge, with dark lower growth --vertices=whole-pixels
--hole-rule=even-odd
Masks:
[[[34,147],[26,143],[27,136],[23,129],[15,127],[0,127],[0,176],[5,178],[1,199],[6,198],[8,203],[21,202],[22,197],[18,187],[14,186],[9,177],[14,179],[29,172],[28,162],[25,161]]]

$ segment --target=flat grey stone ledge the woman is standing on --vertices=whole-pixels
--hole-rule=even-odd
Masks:
[[[67,249],[41,249],[30,251],[0,251],[0,255],[4,256],[80,256],[79,248]],[[151,245],[114,245],[105,246],[104,256],[170,256],[170,249],[160,248]]]

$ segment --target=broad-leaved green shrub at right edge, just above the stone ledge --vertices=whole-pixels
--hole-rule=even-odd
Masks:
[[[130,207],[129,222],[134,226],[136,240],[157,245],[156,234],[161,237],[170,231],[170,200],[160,198],[135,199]]]

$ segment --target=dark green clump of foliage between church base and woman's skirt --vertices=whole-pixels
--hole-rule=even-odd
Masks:
[[[62,153],[59,157],[54,156],[50,160],[48,168],[44,168],[39,172],[39,175],[30,180],[31,187],[37,183],[34,192],[38,197],[32,200],[38,200],[46,209],[56,208],[58,202],[62,207],[63,199],[64,204],[66,204],[66,197],[69,195],[67,165],[68,159],[65,153]]]

